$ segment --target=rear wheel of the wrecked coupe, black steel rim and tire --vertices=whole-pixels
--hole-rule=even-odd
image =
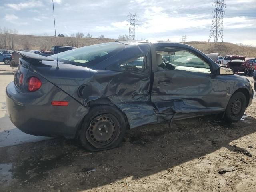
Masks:
[[[116,148],[122,142],[126,128],[125,116],[118,108],[93,106],[84,118],[79,140],[90,152]]]

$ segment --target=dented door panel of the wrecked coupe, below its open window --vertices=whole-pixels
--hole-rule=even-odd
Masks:
[[[161,113],[223,110],[213,74],[161,70],[154,74],[152,102]]]

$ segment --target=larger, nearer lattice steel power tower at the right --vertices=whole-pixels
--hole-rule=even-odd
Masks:
[[[224,0],[215,0],[214,3],[215,8],[208,42],[210,42],[212,37],[213,42],[218,42],[218,40],[223,42],[223,16],[225,14],[224,6],[226,8],[226,4],[224,4]]]

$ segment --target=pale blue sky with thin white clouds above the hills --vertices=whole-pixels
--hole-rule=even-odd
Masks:
[[[93,37],[128,34],[127,15],[139,16],[137,39],[208,41],[213,0],[54,0],[56,32]],[[256,0],[226,0],[224,42],[256,46]],[[0,0],[0,27],[54,35],[52,0]]]

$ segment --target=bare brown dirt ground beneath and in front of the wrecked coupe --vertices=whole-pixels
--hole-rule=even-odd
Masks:
[[[256,192],[256,99],[239,122],[205,116],[83,150],[56,138],[0,148],[0,192]]]

